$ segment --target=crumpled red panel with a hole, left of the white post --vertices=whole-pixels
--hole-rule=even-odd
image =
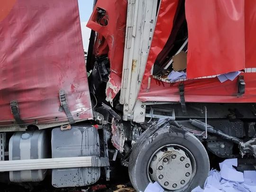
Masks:
[[[100,33],[108,42],[110,59],[110,79],[106,87],[106,100],[112,102],[121,87],[124,44],[127,19],[127,0],[98,0],[87,27]],[[98,22],[98,10],[106,11],[105,25]],[[96,48],[97,49],[97,48]]]

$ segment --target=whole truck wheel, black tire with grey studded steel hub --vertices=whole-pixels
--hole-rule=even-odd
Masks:
[[[210,169],[208,154],[192,134],[164,125],[147,130],[129,159],[129,177],[134,188],[144,191],[157,182],[165,192],[191,192],[202,186]]]

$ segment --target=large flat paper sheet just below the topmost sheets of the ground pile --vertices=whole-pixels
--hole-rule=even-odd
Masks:
[[[234,181],[238,183],[244,182],[244,174],[242,172],[236,171],[233,168],[230,168],[228,165],[223,164],[220,175],[223,179]]]

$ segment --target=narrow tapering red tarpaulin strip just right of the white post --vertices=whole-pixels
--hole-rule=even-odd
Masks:
[[[145,74],[141,83],[141,90],[145,90],[148,84],[148,78],[151,75],[152,66],[158,54],[164,49],[165,44],[172,32],[173,21],[179,0],[162,0],[155,25],[155,31],[149,50]]]

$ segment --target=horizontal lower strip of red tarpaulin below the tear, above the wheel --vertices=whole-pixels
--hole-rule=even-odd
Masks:
[[[255,66],[256,67],[256,66]],[[246,92],[238,97],[238,82],[220,83],[217,77],[184,81],[186,102],[222,102],[246,103],[256,102],[256,73],[241,73],[246,82]],[[140,92],[138,99],[146,101],[180,101],[179,83],[165,83],[151,80],[150,91]]]

